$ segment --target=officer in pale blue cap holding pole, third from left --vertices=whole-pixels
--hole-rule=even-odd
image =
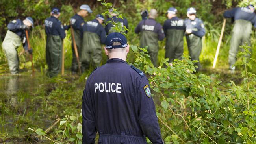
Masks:
[[[81,63],[81,59],[83,59],[83,55],[82,53],[82,41],[83,41],[83,27],[85,26],[86,22],[83,20],[84,17],[87,17],[88,13],[92,13],[93,11],[91,10],[91,8],[86,5],[83,4],[82,6],[80,6],[80,11],[78,11],[78,13],[76,13],[71,19],[71,25],[72,28],[74,30],[74,37],[75,37],[75,41],[76,41],[76,47],[77,47],[77,51],[78,51],[78,56],[79,56],[79,61]],[[76,72],[78,71],[78,63],[76,60],[76,54],[74,51],[74,44],[73,44],[73,40],[72,40],[72,74],[76,74]],[[81,64],[81,71],[84,72],[85,71],[85,64],[82,63]]]

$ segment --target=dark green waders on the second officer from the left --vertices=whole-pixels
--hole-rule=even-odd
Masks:
[[[61,70],[62,40],[59,35],[48,35],[46,39],[46,62],[48,76],[53,77]]]

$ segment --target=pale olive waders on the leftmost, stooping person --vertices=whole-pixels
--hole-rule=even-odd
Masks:
[[[2,43],[2,48],[6,53],[9,70],[11,74],[17,74],[19,72],[19,57],[17,48],[21,45],[21,39],[19,35],[7,31],[6,37]]]

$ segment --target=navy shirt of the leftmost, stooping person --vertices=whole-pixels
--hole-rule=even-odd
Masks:
[[[24,25],[22,20],[20,20],[19,18],[18,19],[15,19],[15,20],[12,20],[11,22],[9,22],[9,24],[7,25],[7,28],[12,31],[13,33],[15,33],[16,35],[19,35],[20,37],[20,40],[22,42],[23,39],[26,37],[26,34],[25,34],[25,30],[24,29],[21,29],[20,26]],[[23,48],[25,50],[28,50],[28,42],[25,41],[23,43]]]

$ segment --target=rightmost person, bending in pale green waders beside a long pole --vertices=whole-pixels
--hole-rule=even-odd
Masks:
[[[239,46],[241,44],[251,46],[250,36],[252,34],[252,25],[256,28],[256,14],[254,11],[254,6],[249,5],[247,7],[236,7],[225,11],[223,14],[225,18],[232,18],[235,20],[228,55],[230,70],[236,69],[233,65],[236,62],[236,54],[239,50]],[[251,49],[249,50],[252,52]],[[250,57],[250,54],[247,56]]]

